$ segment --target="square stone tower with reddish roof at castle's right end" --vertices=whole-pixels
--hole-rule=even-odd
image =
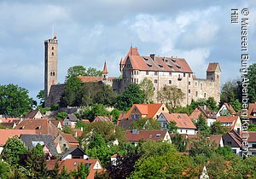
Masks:
[[[218,63],[209,63],[207,67],[207,79],[214,82],[214,98],[217,102],[220,101],[220,76],[221,70]]]

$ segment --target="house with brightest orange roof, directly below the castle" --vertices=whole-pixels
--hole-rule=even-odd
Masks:
[[[160,113],[169,113],[164,104],[133,104],[127,113],[120,113],[117,126],[128,130],[132,122],[140,118],[157,119]]]

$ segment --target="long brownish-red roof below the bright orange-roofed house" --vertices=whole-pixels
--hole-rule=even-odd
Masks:
[[[137,130],[137,133],[132,134],[132,130],[126,130],[125,139],[127,141],[162,141],[166,132],[166,130]]]

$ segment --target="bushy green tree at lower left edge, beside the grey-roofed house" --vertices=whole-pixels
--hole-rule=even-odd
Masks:
[[[18,166],[20,156],[26,153],[27,149],[18,136],[9,138],[3,146],[2,159],[11,166]]]

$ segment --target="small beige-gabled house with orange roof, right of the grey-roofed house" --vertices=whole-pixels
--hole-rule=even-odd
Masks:
[[[72,134],[65,134],[60,132],[55,138],[55,142],[60,144],[61,151],[67,151],[69,148],[79,146],[79,141],[77,141]]]

